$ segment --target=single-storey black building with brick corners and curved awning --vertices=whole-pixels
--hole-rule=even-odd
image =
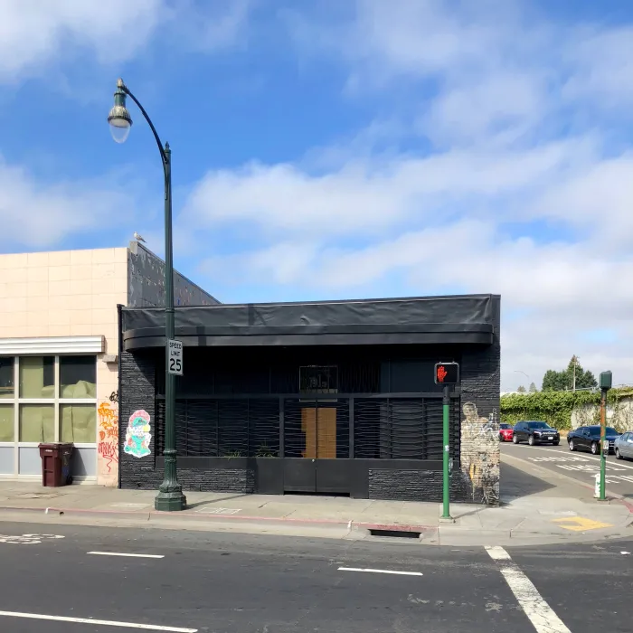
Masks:
[[[439,500],[433,366],[457,361],[452,496],[496,503],[499,309],[494,295],[176,307],[179,480],[185,490]],[[119,320],[120,486],[156,488],[165,312],[121,307]],[[150,420],[142,457],[126,452],[135,411]]]

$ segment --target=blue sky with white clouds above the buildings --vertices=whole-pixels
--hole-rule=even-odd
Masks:
[[[633,383],[629,0],[2,0],[1,252],[164,252],[118,77],[223,302],[498,293],[503,391]]]

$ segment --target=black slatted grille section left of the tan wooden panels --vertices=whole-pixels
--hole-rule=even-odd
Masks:
[[[156,407],[156,449],[165,449],[165,401]],[[279,399],[178,400],[180,457],[279,456]]]

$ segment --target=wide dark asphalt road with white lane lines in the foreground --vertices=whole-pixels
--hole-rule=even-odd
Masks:
[[[54,527],[64,538],[7,542],[51,526],[0,530],[3,633],[130,633],[138,625],[226,633],[631,629],[633,541],[487,552],[69,525]]]

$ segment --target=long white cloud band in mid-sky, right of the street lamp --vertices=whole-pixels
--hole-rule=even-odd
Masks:
[[[483,200],[503,200],[547,183],[579,160],[574,140],[530,151],[459,151],[388,160],[350,161],[310,175],[298,165],[245,165],[208,173],[184,207],[182,219],[211,227],[255,222],[322,236],[375,234],[411,222],[439,222]],[[511,219],[500,206],[497,217]]]

